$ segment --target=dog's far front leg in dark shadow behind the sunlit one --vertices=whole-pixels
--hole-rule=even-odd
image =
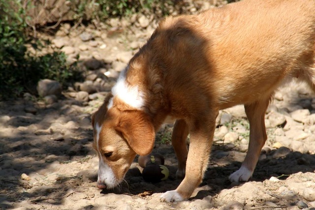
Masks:
[[[178,160],[176,177],[184,179],[186,160],[188,155],[187,136],[189,134],[188,125],[185,120],[176,120],[172,133],[172,145]]]

